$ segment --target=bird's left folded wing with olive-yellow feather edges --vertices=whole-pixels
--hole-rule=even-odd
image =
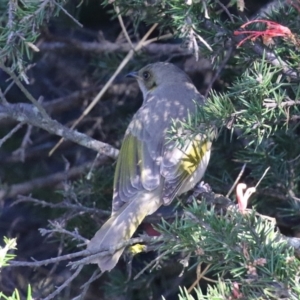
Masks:
[[[153,191],[161,183],[160,161],[163,131],[156,128],[155,107],[144,105],[126,131],[114,177],[113,213],[139,191]],[[150,126],[151,123],[155,123]],[[162,124],[163,126],[164,124]]]

